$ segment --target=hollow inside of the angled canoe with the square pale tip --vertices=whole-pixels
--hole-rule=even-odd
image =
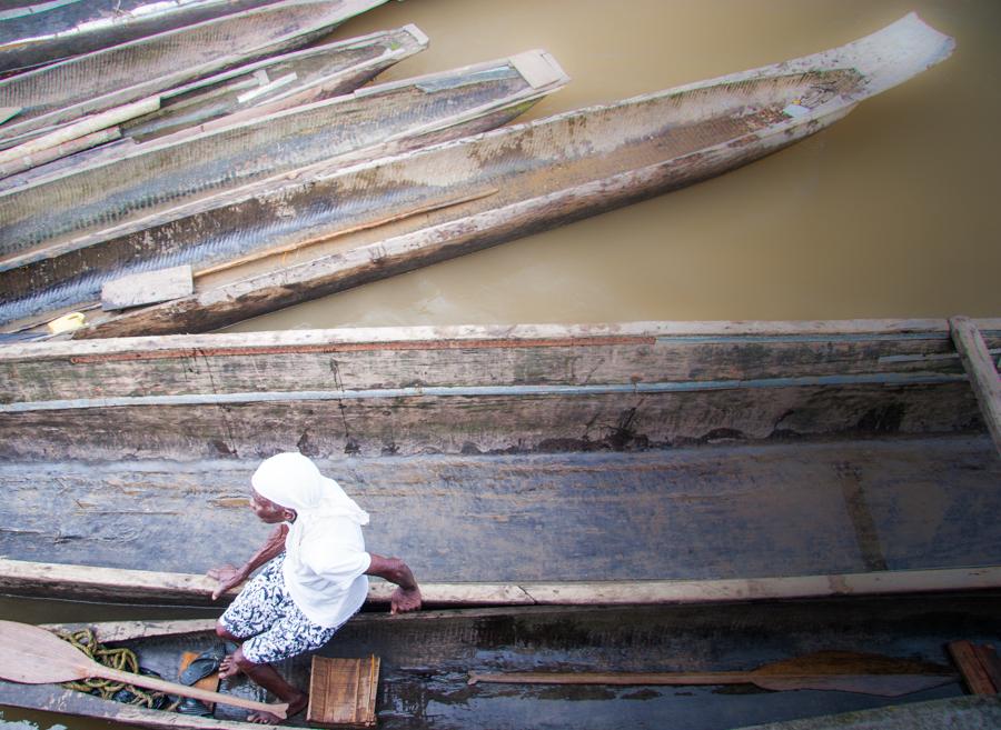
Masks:
[[[464,114],[517,103],[533,92],[515,66],[502,59],[474,71],[458,69],[426,81],[384,84],[278,117],[138,147],[102,164],[70,170],[0,196],[4,211],[0,232],[6,241],[0,251],[10,254],[43,242],[52,244],[70,233],[162,212],[300,166],[337,160],[387,139],[412,136],[426,126],[460,122]],[[468,128],[456,124],[455,129]],[[472,126],[472,131],[480,129]]]

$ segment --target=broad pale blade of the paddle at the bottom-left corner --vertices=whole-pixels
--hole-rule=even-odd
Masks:
[[[70,682],[87,678],[93,663],[54,633],[0,621],[0,679],[26,684]]]

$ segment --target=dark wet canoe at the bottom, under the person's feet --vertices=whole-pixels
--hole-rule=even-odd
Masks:
[[[326,657],[379,657],[378,727],[582,730],[732,728],[925,701],[960,701],[959,681],[902,697],[746,687],[554,687],[467,683],[473,672],[739,671],[819,649],[879,653],[949,667],[944,647],[958,638],[994,640],[997,594],[714,607],[473,609],[404,616],[363,613],[321,651]],[[97,638],[137,651],[143,667],[177,677],[181,651],[218,651],[211,620],[92,624]],[[75,629],[52,627],[53,629]],[[277,669],[300,687],[309,658]],[[929,667],[926,671],[933,670]],[[865,684],[865,682],[858,682]],[[730,691],[726,691],[726,690]],[[221,690],[268,699],[246,681]],[[248,729],[246,711],[216,706],[211,718],[129,707],[58,686],[0,682],[0,704],[150,728]],[[989,712],[990,708],[984,708]],[[995,717],[992,713],[982,717]],[[293,726],[304,724],[301,717]],[[945,727],[945,726],[942,726]]]

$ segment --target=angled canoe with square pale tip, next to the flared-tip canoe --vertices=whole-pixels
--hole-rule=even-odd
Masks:
[[[0,317],[46,319],[53,308],[99,298],[106,281],[141,271],[146,263],[141,253],[138,266],[109,258],[108,244],[120,239],[105,243],[108,231],[102,227],[108,223],[143,238],[151,219],[169,220],[185,209],[207,211],[210,220],[212,201],[240,186],[274,186],[275,180],[295,178],[301,164],[346,167],[386,151],[492,129],[566,81],[548,53],[528,51],[167,138],[138,146],[119,159],[2,191]],[[345,209],[353,204],[344,202]],[[296,220],[286,224],[298,228]],[[182,244],[161,250],[168,259],[157,261],[177,258],[184,264],[192,256],[204,263],[226,261],[246,250],[237,233],[235,239],[215,239],[219,247],[215,252]],[[86,272],[67,276],[62,264],[79,260],[80,247],[87,251],[83,256],[102,260],[89,258]],[[52,271],[52,266],[59,280],[40,280],[37,274]]]

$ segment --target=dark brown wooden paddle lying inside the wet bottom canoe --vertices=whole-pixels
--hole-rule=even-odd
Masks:
[[[822,651],[739,672],[470,672],[469,684],[755,684],[767,690],[840,690],[900,697],[957,681],[942,667],[880,654]]]

